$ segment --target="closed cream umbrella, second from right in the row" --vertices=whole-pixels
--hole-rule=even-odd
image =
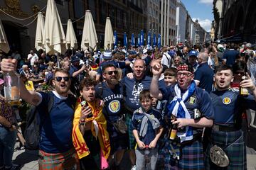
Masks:
[[[97,47],[97,33],[95,29],[95,24],[92,18],[92,13],[90,10],[85,12],[85,23],[82,30],[82,50],[96,50]]]

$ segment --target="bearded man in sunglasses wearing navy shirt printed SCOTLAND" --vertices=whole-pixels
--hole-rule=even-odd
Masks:
[[[97,84],[96,96],[105,102],[103,114],[107,120],[107,132],[110,135],[111,155],[110,161],[119,169],[125,149],[128,148],[128,135],[124,130],[117,129],[117,121],[123,119],[124,89],[117,80],[117,68],[108,63],[102,68],[104,82]],[[123,121],[124,122],[124,121]],[[112,159],[112,160],[111,160]],[[114,167],[110,164],[111,168]]]

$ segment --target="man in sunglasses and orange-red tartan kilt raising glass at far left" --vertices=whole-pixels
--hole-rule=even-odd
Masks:
[[[16,60],[4,59],[1,70],[15,72],[16,64]],[[70,74],[63,69],[55,69],[55,90],[50,93],[28,91],[21,81],[21,98],[37,106],[41,118],[39,169],[71,169],[74,166],[80,169],[71,137],[75,98],[68,96],[70,84]],[[53,107],[47,114],[50,95],[53,97]]]

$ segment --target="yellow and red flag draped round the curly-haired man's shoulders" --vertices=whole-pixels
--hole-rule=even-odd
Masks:
[[[82,133],[79,129],[79,120],[81,115],[81,104],[80,98],[78,98],[77,103],[75,104],[75,115],[73,120],[73,130],[72,130],[72,139],[73,145],[76,152],[78,153],[79,159],[86,157],[90,154],[90,148],[87,147]],[[100,101],[95,100],[92,103],[88,103],[89,107],[92,109],[92,118],[87,118],[85,121],[92,121],[92,135],[94,135],[100,142],[100,148],[105,159],[110,156],[110,138],[107,132],[107,121],[102,113],[103,106],[100,106]]]

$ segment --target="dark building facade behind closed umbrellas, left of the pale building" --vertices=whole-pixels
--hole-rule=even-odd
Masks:
[[[99,47],[104,45],[105,23],[107,16],[110,16],[113,30],[117,31],[119,44],[123,43],[124,32],[130,41],[132,33],[137,38],[140,30],[148,30],[147,1],[146,0],[70,0],[70,18],[77,20],[85,15],[90,9],[95,21],[95,28],[98,36]],[[75,23],[78,42],[82,39],[84,20]]]

